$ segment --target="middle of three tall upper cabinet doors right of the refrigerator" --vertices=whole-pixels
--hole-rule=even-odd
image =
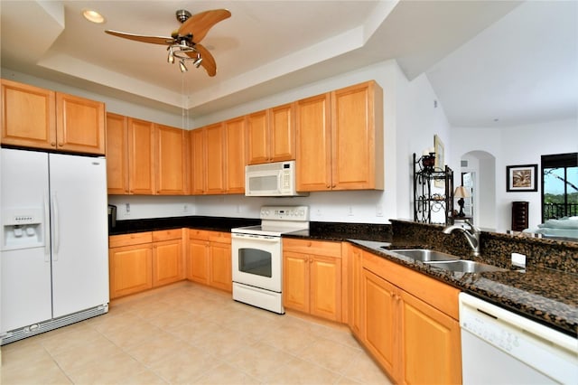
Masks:
[[[130,193],[154,194],[154,124],[128,118]]]

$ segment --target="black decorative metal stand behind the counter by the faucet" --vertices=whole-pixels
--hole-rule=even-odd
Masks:
[[[444,212],[443,224],[453,223],[453,171],[447,165],[435,168],[435,154],[416,159],[414,153],[414,221],[433,223],[432,212]],[[443,180],[441,192],[432,191],[432,182]]]

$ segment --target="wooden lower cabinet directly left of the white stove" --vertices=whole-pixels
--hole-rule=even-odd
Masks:
[[[231,265],[230,233],[189,230],[187,279],[232,292]]]

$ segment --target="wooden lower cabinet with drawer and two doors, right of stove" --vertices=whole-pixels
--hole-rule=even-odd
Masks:
[[[283,271],[286,308],[341,322],[340,242],[284,239]]]

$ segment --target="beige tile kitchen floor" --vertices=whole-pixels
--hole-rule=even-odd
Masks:
[[[389,384],[346,327],[275,315],[192,283],[2,347],[10,384]]]

